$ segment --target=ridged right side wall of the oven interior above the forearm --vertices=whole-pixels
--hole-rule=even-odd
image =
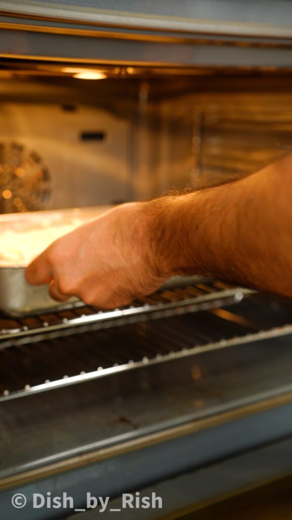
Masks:
[[[286,82],[291,86],[289,77]],[[197,107],[194,186],[249,175],[292,148],[290,93],[242,89],[193,95],[185,102]]]

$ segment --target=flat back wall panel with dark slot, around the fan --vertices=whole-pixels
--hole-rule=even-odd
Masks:
[[[84,102],[54,102],[49,94],[47,101],[28,101],[25,82],[14,100],[6,100],[5,85],[0,84],[0,189],[11,196],[2,197],[3,212],[129,200],[130,119]],[[44,184],[39,164],[48,193],[34,202]]]

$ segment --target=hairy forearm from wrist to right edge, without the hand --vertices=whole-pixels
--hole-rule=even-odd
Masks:
[[[291,197],[287,156],[234,183],[153,201],[153,254],[171,275],[219,277],[292,296]]]

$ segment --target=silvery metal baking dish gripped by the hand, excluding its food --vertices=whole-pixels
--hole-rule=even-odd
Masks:
[[[25,231],[43,228],[44,222],[49,225],[63,225],[71,222],[72,218],[80,219],[82,224],[107,211],[110,207],[112,206],[0,215],[0,227]],[[82,302],[75,297],[70,298],[68,302],[58,303],[49,296],[47,285],[30,285],[25,279],[25,267],[24,265],[0,267],[0,310],[3,313],[21,317],[82,305]]]

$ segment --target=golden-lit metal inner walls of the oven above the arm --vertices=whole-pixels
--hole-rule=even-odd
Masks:
[[[10,177],[0,176],[1,193],[11,191],[1,198],[2,212],[112,204],[208,186],[253,173],[291,148],[291,75],[211,72],[153,79],[149,68],[144,79],[132,74],[94,86],[70,77],[2,79],[0,164],[11,163]],[[47,176],[47,196],[33,207],[44,181],[33,184],[39,165],[28,164],[28,153]],[[15,179],[26,173],[20,194]],[[20,197],[23,207],[14,205]]]

